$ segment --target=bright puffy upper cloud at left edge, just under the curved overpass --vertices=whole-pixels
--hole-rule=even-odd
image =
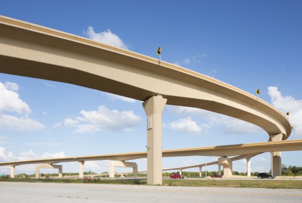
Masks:
[[[9,86],[12,88],[14,85]],[[17,112],[27,115],[31,113],[28,104],[19,98],[19,94],[10,90],[0,82],[0,112],[1,111]]]

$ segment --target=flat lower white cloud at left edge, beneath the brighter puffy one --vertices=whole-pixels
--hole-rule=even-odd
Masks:
[[[0,114],[0,128],[9,128],[18,131],[33,131],[42,129],[45,126],[38,121],[27,117],[16,117],[11,115]]]

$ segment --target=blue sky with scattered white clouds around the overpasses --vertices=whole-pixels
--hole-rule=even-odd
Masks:
[[[251,94],[261,89],[262,99],[290,112],[289,139],[302,139],[301,9],[300,1],[6,1],[0,15],[152,57],[161,46],[162,60]],[[0,74],[0,117],[1,162],[146,150],[141,102],[84,87]],[[205,146],[205,134],[207,146],[268,140],[257,126],[199,109],[166,106],[163,123],[164,149]],[[282,163],[302,166],[301,156],[283,152]],[[146,169],[144,159],[136,161]],[[163,168],[203,162],[164,158]],[[251,163],[252,171],[269,171],[269,153]],[[63,166],[78,171],[77,163]],[[245,160],[233,168],[244,172]],[[86,162],[85,170],[107,171],[108,162]],[[34,167],[17,166],[20,172]]]

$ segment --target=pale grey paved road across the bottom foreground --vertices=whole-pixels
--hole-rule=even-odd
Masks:
[[[0,182],[0,202],[302,202],[302,190]]]

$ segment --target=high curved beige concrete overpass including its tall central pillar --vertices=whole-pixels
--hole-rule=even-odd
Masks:
[[[232,116],[286,140],[287,118],[272,105],[202,74],[132,51],[0,16],[0,73],[93,88],[143,102],[148,183],[161,184],[162,112],[166,104]],[[280,162],[280,153],[275,153]],[[281,166],[280,164],[278,164]]]

